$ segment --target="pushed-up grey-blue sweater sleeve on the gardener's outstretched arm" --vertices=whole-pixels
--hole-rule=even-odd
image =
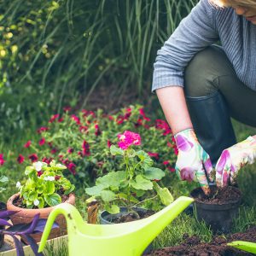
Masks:
[[[218,41],[213,16],[216,8],[201,0],[184,18],[154,62],[152,91],[171,85],[183,87],[183,72],[193,56]]]

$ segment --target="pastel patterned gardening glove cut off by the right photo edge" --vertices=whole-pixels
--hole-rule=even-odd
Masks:
[[[218,187],[235,184],[238,171],[256,159],[256,140],[247,137],[241,143],[224,149],[216,165],[216,183]]]

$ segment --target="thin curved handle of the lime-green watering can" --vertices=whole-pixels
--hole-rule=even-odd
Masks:
[[[47,238],[48,238],[50,230],[51,230],[51,227],[55,222],[55,218],[59,214],[63,214],[65,216],[65,218],[67,220],[67,229],[76,226],[74,224],[70,225],[72,222],[83,221],[83,218],[81,217],[79,211],[75,207],[73,207],[71,204],[61,203],[61,204],[57,205],[49,213],[49,217],[45,224],[44,233],[43,233],[43,236],[41,238],[40,245],[38,248],[38,253],[43,252]]]

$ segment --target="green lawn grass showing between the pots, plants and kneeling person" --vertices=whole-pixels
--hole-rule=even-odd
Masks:
[[[256,134],[256,129],[249,127],[247,125],[242,125],[235,120],[232,120],[236,131],[237,141],[245,139],[248,135]],[[32,127],[31,131],[26,131],[21,135],[19,143],[14,140],[9,145],[0,144],[0,152],[3,152],[7,156],[7,160],[14,154],[14,149],[22,153],[22,145],[26,143],[28,139],[33,139],[31,136],[36,130]],[[17,152],[17,151],[16,151]],[[4,165],[3,165],[4,166]],[[3,166],[1,168],[3,168]],[[239,215],[234,221],[234,227],[232,233],[247,230],[250,225],[256,224],[256,165],[246,166],[241,170],[238,177],[239,186],[243,195],[243,205],[240,207]],[[23,172],[15,169],[5,169],[4,172],[9,176],[10,182],[9,186],[2,195],[0,195],[1,201],[6,201],[10,195],[13,194],[15,183],[23,177]],[[189,195],[189,191],[195,187],[196,184],[188,184],[186,182],[172,181],[172,186],[170,187],[173,195],[177,198],[179,195]],[[77,191],[76,207],[84,219],[86,216],[85,207],[85,195],[84,189],[79,189]],[[172,224],[166,227],[166,229],[154,240],[154,248],[160,247],[170,247],[179,244],[183,241],[183,235],[188,234],[189,236],[196,235],[201,238],[201,241],[211,241],[212,231],[209,230],[203,222],[199,222],[195,216],[188,216],[185,213],[181,214],[176,218]],[[67,255],[67,245],[63,245],[60,252],[52,252],[52,249],[48,248],[47,255]]]

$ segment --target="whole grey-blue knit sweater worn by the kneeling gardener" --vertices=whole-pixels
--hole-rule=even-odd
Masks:
[[[234,9],[219,9],[201,0],[181,21],[154,63],[152,90],[183,86],[183,71],[192,57],[220,41],[237,77],[256,90],[256,26]]]

